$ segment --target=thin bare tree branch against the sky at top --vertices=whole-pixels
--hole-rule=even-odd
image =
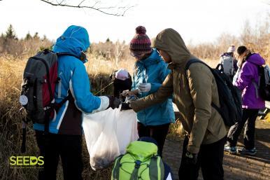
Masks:
[[[1,1],[1,0],[0,0]],[[104,13],[106,15],[115,15],[115,16],[124,16],[125,13],[130,9],[133,8],[134,6],[108,6],[108,7],[98,7],[98,4],[101,4],[101,1],[95,1],[94,5],[92,6],[87,6],[85,5],[85,0],[81,0],[80,3],[78,5],[72,5],[72,4],[68,4],[66,3],[65,0],[40,0],[45,2],[46,4],[50,4],[52,6],[63,6],[63,7],[69,7],[69,8],[88,8],[88,9],[92,9],[95,11],[99,11],[100,13]],[[111,11],[109,10],[115,10],[115,13],[111,13]]]

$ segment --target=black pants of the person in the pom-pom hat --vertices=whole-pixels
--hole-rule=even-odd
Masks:
[[[157,141],[159,155],[162,156],[163,146],[165,143],[166,135],[169,130],[170,123],[164,125],[148,125],[138,123],[138,137],[152,137]]]

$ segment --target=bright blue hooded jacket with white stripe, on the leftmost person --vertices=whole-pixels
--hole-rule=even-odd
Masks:
[[[53,51],[80,57],[81,52],[87,50],[89,46],[87,30],[72,25],[57,39]],[[57,73],[61,80],[55,88],[55,102],[61,102],[69,92],[72,98],[66,101],[56,117],[50,121],[51,133],[80,135],[83,133],[83,113],[101,111],[108,107],[107,97],[107,99],[96,97],[90,92],[90,80],[85,65],[76,57],[68,55],[58,57]],[[34,129],[44,130],[44,125],[34,124]]]

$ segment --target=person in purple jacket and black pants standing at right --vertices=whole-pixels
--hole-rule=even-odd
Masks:
[[[229,129],[227,144],[224,150],[236,153],[237,139],[245,126],[244,148],[237,149],[238,153],[255,155],[255,120],[259,109],[265,107],[264,100],[260,97],[256,84],[259,81],[259,66],[265,64],[265,60],[257,53],[250,53],[245,46],[237,48],[239,70],[234,76],[233,84],[242,91],[243,117],[238,123]]]

